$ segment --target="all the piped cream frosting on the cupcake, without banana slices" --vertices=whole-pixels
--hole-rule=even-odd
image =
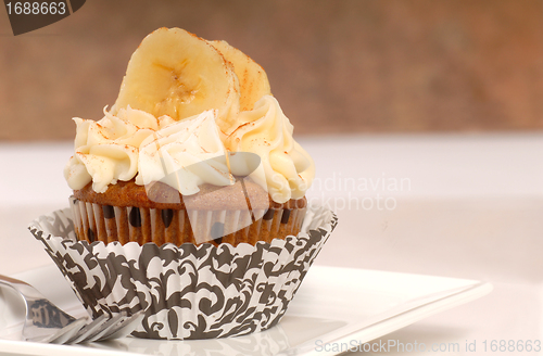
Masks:
[[[264,96],[253,110],[241,112],[237,128],[224,140],[216,117],[217,112],[211,110],[177,122],[129,106],[116,115],[104,109],[104,117],[98,122],[76,117],[75,154],[64,176],[74,190],[92,181],[92,189],[103,193],[117,180],[136,178],[137,185],[160,180],[191,195],[203,183],[228,186],[235,182],[232,175],[251,174],[249,167],[255,166],[248,162],[251,155],[235,154],[250,152],[264,168],[263,175],[253,174],[252,178],[275,202],[304,196],[315,165],[293,140],[293,126],[274,97]]]

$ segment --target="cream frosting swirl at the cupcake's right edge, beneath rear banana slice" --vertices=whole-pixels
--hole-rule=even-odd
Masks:
[[[277,100],[263,96],[251,111],[241,112],[238,128],[225,140],[230,151],[257,154],[272,199],[285,203],[304,196],[315,177],[312,157],[292,138],[294,127]],[[232,166],[232,174],[237,175]]]

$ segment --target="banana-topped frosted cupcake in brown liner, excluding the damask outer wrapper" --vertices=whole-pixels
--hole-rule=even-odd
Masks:
[[[112,110],[75,122],[64,174],[80,240],[237,245],[300,232],[313,161],[265,72],[225,41],[154,31]]]

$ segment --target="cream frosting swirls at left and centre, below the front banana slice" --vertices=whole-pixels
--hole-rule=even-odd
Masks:
[[[156,118],[130,107],[119,110],[117,115],[104,110],[104,115],[99,122],[74,118],[75,154],[64,168],[72,189],[81,189],[92,181],[92,189],[103,193],[109,185],[136,177],[138,185],[162,180],[189,195],[205,182],[232,182],[228,167],[210,160],[225,155],[215,111],[181,122],[169,116]],[[176,175],[169,175],[173,171]]]

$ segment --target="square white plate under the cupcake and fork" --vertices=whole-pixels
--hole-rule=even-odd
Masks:
[[[56,266],[15,276],[38,288],[54,304],[72,315],[85,312]],[[113,343],[74,346],[43,345],[0,340],[0,349],[15,355],[62,356],[166,354],[213,355],[337,355],[336,344],[352,340],[365,343],[432,314],[478,298],[491,291],[488,283],[420,275],[314,266],[307,274],[281,322],[262,333],[203,341],[155,341],[124,338]],[[8,316],[0,298],[0,336],[22,325],[24,307]],[[20,336],[20,335],[18,335]],[[16,338],[20,339],[20,338]],[[340,347],[340,346],[338,346]],[[356,347],[356,346],[355,346]],[[338,348],[340,349],[340,348]]]

